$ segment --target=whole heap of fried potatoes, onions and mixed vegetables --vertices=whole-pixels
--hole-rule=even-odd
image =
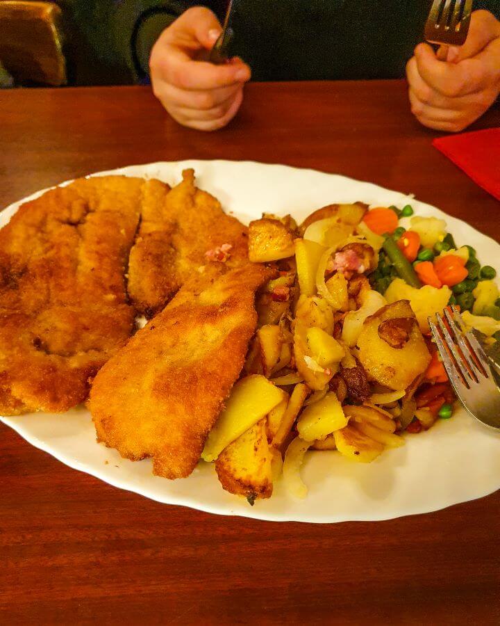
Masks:
[[[449,305],[500,339],[496,272],[458,247],[444,220],[397,207],[331,204],[297,225],[265,214],[249,258],[275,278],[258,297],[258,330],[202,458],[253,504],[283,472],[297,497],[309,449],[369,463],[453,414],[455,396],[428,316]]]

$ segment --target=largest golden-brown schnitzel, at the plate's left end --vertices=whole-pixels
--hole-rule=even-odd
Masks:
[[[143,184],[78,179],[0,230],[0,414],[72,408],[131,335],[124,273]]]

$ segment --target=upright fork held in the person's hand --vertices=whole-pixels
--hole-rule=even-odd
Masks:
[[[434,0],[424,29],[424,37],[439,44],[437,58],[446,61],[448,46],[462,46],[469,32],[472,0]]]

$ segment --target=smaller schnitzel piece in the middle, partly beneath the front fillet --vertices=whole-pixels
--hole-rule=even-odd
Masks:
[[[224,243],[232,246],[224,264],[248,262],[247,227],[222,210],[220,202],[194,185],[194,171],[185,170],[172,191],[151,180],[144,186],[138,239],[128,264],[128,294],[148,317],[163,309],[197,268],[206,252]]]

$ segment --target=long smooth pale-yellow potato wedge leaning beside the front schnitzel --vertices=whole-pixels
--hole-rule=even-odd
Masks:
[[[263,419],[282,400],[283,391],[264,376],[254,374],[238,380],[226,408],[208,434],[201,458],[208,462],[215,460],[224,448]]]

